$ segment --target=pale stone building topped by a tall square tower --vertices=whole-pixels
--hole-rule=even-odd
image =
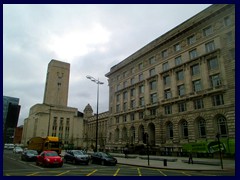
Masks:
[[[83,138],[83,114],[68,107],[70,64],[51,60],[42,104],[31,107],[24,120],[22,143],[30,138],[58,136],[63,144],[78,144]]]

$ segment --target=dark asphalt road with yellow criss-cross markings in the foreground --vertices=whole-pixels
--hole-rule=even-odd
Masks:
[[[117,164],[101,166],[96,164],[74,165],[65,163],[61,168],[44,168],[35,162],[25,162],[20,154],[4,151],[3,176],[234,176],[234,172],[187,171],[145,168]]]

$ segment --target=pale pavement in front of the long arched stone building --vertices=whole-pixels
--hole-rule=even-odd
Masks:
[[[91,155],[93,152],[88,152]],[[124,154],[110,153],[118,161],[118,164],[131,166],[159,168],[159,169],[175,169],[175,170],[192,170],[192,171],[235,171],[235,159],[215,158],[196,158],[193,157],[193,164],[188,164],[188,157],[174,156],[153,156],[128,154],[125,158]],[[64,152],[62,152],[64,155]]]

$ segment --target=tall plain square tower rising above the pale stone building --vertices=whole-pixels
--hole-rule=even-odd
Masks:
[[[67,106],[70,64],[52,59],[48,64],[43,103]]]

